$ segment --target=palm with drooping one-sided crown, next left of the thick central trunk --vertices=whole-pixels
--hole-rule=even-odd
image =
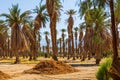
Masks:
[[[48,14],[46,12],[46,5],[41,5],[41,3],[39,4],[39,6],[36,6],[35,9],[33,9],[34,13],[37,13],[35,20],[34,20],[34,39],[35,39],[35,44],[34,44],[34,60],[36,60],[36,53],[37,53],[37,43],[36,43],[36,34],[37,31],[41,28],[41,27],[45,27],[46,26],[46,22],[48,21]]]

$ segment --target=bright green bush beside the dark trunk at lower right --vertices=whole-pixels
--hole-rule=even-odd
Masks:
[[[97,71],[97,80],[111,80],[108,70],[112,64],[112,58],[106,58],[104,62],[100,64],[100,68]]]

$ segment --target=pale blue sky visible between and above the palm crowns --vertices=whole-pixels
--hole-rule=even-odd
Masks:
[[[43,3],[44,3],[45,0],[43,0]],[[61,0],[63,1],[63,0]],[[24,12],[26,10],[32,10],[34,9],[36,6],[39,5],[39,2],[40,0],[1,0],[0,2],[0,14],[1,13],[9,13],[9,8],[12,7],[12,4],[13,5],[16,5],[18,4],[19,5],[19,8],[21,9],[21,12]],[[64,0],[64,2],[62,2],[62,10],[61,11],[61,20],[57,23],[57,38],[60,38],[61,36],[61,29],[66,29],[67,30],[67,23],[66,23],[66,19],[68,19],[68,15],[65,14],[65,11],[66,10],[69,10],[69,9],[74,9],[77,11],[76,15],[74,15],[74,26],[73,27],[78,27],[79,24],[83,21],[83,20],[80,20],[80,17],[79,17],[79,13],[78,13],[78,10],[79,10],[79,7],[77,5],[75,5],[77,3],[77,0]],[[35,17],[36,14],[32,14],[33,17]],[[3,18],[0,18],[0,19],[3,19]],[[49,31],[50,32],[50,29],[49,29],[49,22],[47,23],[47,26],[46,28],[44,29],[41,29],[40,32],[41,32],[41,35],[42,35],[42,40],[44,40],[44,34],[43,32],[44,31]],[[67,34],[67,32],[66,32]],[[50,37],[49,37],[50,38]]]

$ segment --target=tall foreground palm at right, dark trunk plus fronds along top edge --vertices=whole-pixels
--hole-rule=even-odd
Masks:
[[[114,80],[119,80],[120,77],[120,63],[118,60],[118,50],[117,50],[117,35],[116,35],[116,28],[115,28],[115,15],[114,15],[114,2],[116,0],[94,0],[93,2],[97,4],[98,7],[106,7],[108,5],[110,7],[111,13],[111,32],[112,32],[112,43],[113,43],[113,62],[111,68],[111,76]],[[91,1],[92,2],[92,1]],[[112,70],[113,69],[113,70]],[[115,74],[114,71],[117,71]]]

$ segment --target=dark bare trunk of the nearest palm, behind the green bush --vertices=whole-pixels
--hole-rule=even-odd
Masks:
[[[113,78],[113,80],[119,80],[120,79],[120,60],[118,59],[113,0],[110,0],[110,12],[111,12],[111,23],[112,23],[111,30],[112,30],[112,37],[113,37],[113,40],[112,40],[113,62],[112,62],[112,68],[110,69],[110,75]]]

